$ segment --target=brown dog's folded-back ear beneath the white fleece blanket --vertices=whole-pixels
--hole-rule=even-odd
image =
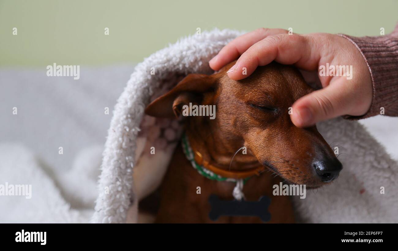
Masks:
[[[156,118],[170,118],[181,114],[183,105],[200,102],[204,93],[214,90],[216,77],[192,73],[182,79],[171,91],[156,98],[145,109],[145,113]]]

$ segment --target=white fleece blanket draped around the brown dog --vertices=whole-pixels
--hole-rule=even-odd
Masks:
[[[144,108],[182,76],[212,73],[208,60],[240,34],[213,30],[186,37],[137,65],[108,130],[93,222],[137,222],[137,201],[159,185],[179,133],[178,124],[148,118]],[[344,169],[337,182],[295,199],[300,221],[398,222],[397,162],[358,122],[338,118],[318,129],[328,143],[344,147]],[[152,146],[156,154],[150,156]]]

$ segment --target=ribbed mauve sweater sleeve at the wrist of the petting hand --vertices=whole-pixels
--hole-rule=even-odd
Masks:
[[[373,100],[368,112],[349,119],[368,118],[380,114],[398,116],[398,24],[388,35],[378,37],[345,37],[361,52],[373,82]]]

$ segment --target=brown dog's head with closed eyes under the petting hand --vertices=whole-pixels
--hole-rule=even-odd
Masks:
[[[193,115],[187,109],[195,105],[210,109],[215,106],[214,119],[211,114],[189,116],[185,125],[193,141],[203,141],[210,148],[209,158],[229,164],[234,153],[245,146],[247,154],[234,158],[237,167],[260,162],[285,180],[308,187],[320,187],[336,179],[342,165],[316,126],[298,128],[291,122],[293,103],[314,90],[298,70],[273,62],[235,81],[226,75],[233,65],[213,75],[188,75],[154,100],[146,114]]]

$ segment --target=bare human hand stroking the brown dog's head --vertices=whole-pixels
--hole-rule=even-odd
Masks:
[[[292,106],[291,120],[297,127],[312,126],[346,114],[361,116],[371,106],[373,84],[367,63],[353,43],[338,35],[289,35],[283,29],[257,29],[224,46],[209,65],[213,70],[219,70],[238,57],[227,72],[234,80],[248,77],[258,66],[273,60],[321,73],[318,77],[323,88],[299,98]],[[320,66],[326,67],[327,63],[329,66],[352,66],[352,72],[349,72],[352,78],[322,74]]]

